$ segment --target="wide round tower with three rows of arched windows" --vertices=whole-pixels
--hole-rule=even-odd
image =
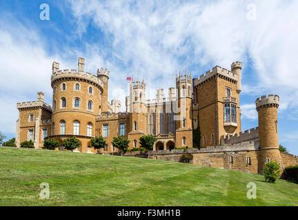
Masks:
[[[87,153],[95,136],[95,117],[99,114],[103,82],[90,73],[84,73],[84,59],[79,58],[76,69],[59,70],[52,65],[52,129],[49,138],[61,142],[75,136],[81,142],[79,151]],[[42,94],[39,100],[43,100]]]

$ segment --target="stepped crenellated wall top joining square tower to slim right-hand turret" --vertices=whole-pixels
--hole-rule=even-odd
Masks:
[[[257,140],[259,138],[259,128],[249,129],[242,131],[241,133],[235,133],[232,135],[222,135],[221,144],[237,144],[241,142],[247,142]]]

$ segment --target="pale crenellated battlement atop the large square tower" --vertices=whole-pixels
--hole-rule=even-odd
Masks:
[[[230,70],[219,67],[219,66],[215,66],[212,69],[208,70],[208,72],[206,72],[205,74],[202,74],[199,78],[195,79],[195,85],[197,86],[203,82],[205,82],[206,80],[208,80],[208,78],[211,78],[212,76],[215,76],[219,74],[220,76],[223,76],[224,78],[229,78],[230,80],[235,81],[235,83],[237,83],[237,74],[230,72]]]

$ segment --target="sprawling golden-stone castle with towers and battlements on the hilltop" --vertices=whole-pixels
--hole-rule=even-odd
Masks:
[[[97,69],[94,76],[84,72],[84,65],[81,57],[78,70],[61,70],[52,63],[52,106],[42,92],[37,101],[17,103],[17,146],[32,140],[34,148],[42,148],[43,140],[54,138],[61,144],[57,150],[63,150],[62,141],[75,136],[81,142],[75,151],[97,153],[91,139],[102,135],[107,144],[100,153],[112,154],[117,152],[112,137],[127,137],[129,148],[139,148],[139,137],[153,134],[158,140],[148,155],[152,159],[178,161],[184,151],[174,148],[186,147],[192,163],[202,166],[261,173],[270,160],[281,168],[298,164],[296,156],[279,152],[279,96],[257,98],[259,127],[241,132],[241,62],[232,63],[230,71],[213,67],[199,78],[179,71],[168,98],[157,89],[154,100],[146,100],[144,80],[132,77],[126,112],[121,112],[120,100],[108,101],[108,69]],[[192,148],[198,128],[201,149]]]

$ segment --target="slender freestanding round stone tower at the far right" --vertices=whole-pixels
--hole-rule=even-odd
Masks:
[[[256,100],[256,108],[259,117],[259,166],[258,173],[263,173],[266,162],[275,161],[280,164],[277,109],[279,96],[261,96]]]

